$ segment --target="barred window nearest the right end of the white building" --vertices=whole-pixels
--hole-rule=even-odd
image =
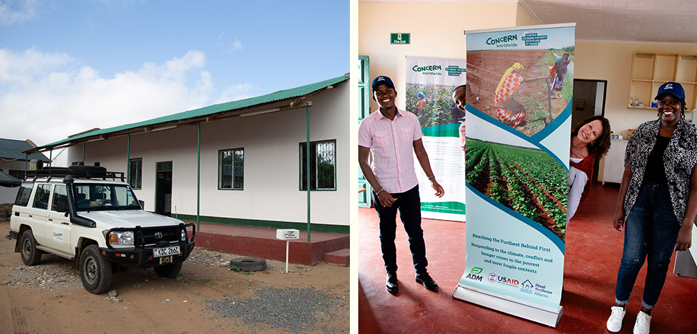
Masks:
[[[307,143],[300,143],[300,190],[307,190]],[[337,141],[309,143],[310,190],[337,190]]]

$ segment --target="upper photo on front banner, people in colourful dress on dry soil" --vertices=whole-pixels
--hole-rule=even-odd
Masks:
[[[565,57],[567,54],[567,58]],[[567,72],[555,80],[562,58]],[[557,118],[574,93],[574,47],[467,52],[467,103],[533,136]],[[556,87],[555,87],[556,85]],[[555,89],[557,88],[557,89]],[[560,88],[560,90],[558,90]]]

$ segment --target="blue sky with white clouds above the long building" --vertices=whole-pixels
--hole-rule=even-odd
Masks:
[[[0,138],[37,145],[339,77],[348,0],[0,0]]]

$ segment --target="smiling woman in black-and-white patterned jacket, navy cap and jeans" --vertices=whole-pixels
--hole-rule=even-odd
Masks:
[[[684,121],[684,97],[677,82],[661,85],[655,98],[659,119],[640,125],[627,144],[613,217],[616,230],[625,228],[625,246],[615,306],[607,321],[611,332],[620,331],[629,294],[648,258],[634,333],[649,333],[651,310],[666,281],[673,249],[691,246],[697,216],[697,130]]]

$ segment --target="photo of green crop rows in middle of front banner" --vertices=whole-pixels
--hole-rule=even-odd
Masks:
[[[467,138],[467,183],[500,209],[517,212],[532,221],[528,223],[542,225],[564,241],[569,189],[564,166],[543,150],[486,122],[473,125],[487,129],[473,128],[471,133],[482,138]]]

